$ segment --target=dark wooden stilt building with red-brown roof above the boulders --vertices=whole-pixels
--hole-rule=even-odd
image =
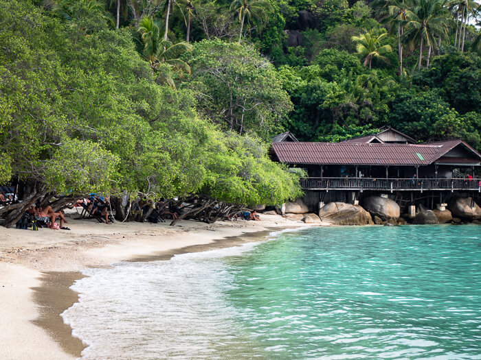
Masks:
[[[340,143],[302,143],[290,133],[273,139],[273,160],[304,169],[304,202],[355,204],[367,195],[395,200],[401,208],[443,204],[453,195],[481,197],[481,155],[462,140],[416,144],[392,128]]]

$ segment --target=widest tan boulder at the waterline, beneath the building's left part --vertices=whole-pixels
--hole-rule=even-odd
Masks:
[[[373,225],[370,213],[359,205],[329,202],[319,211],[322,221],[335,225]]]

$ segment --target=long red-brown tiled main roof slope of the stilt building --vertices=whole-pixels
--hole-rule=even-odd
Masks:
[[[465,144],[273,143],[272,148],[280,162],[289,164],[429,165],[460,143]]]

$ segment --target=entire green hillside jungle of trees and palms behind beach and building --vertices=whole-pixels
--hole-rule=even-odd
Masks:
[[[238,208],[300,194],[267,154],[286,130],[339,141],[390,125],[479,150],[480,11],[471,0],[3,0],[0,184],[21,181],[25,206],[98,192]]]

